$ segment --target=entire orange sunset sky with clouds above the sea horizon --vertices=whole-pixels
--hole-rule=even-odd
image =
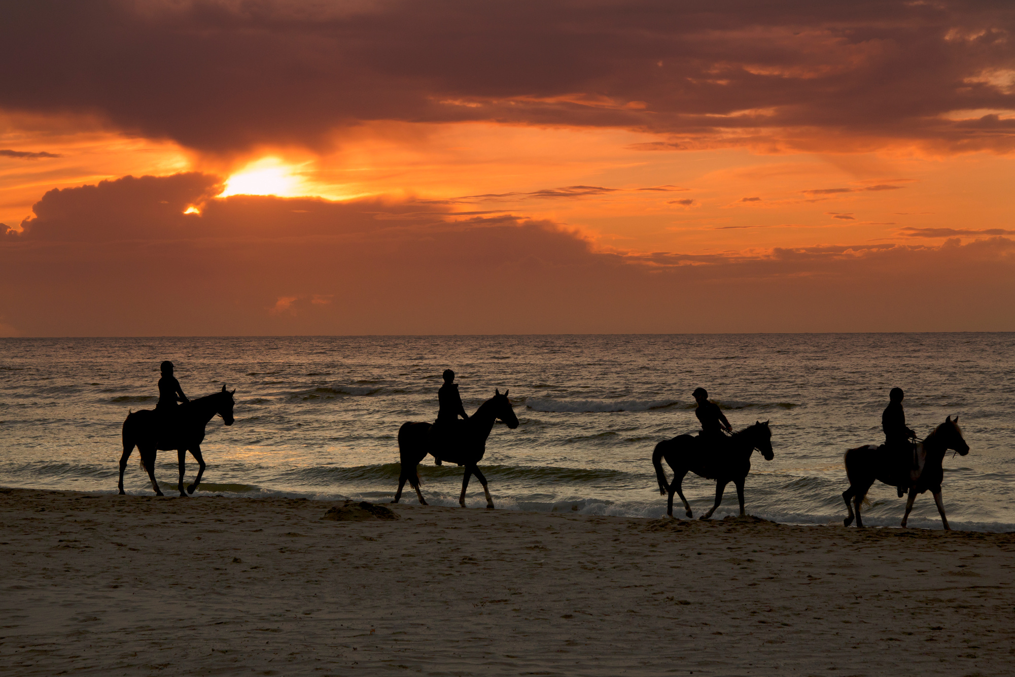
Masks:
[[[0,336],[1015,330],[1010,0],[0,16]]]

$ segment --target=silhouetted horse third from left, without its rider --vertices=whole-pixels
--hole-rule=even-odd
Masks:
[[[707,520],[723,502],[723,492],[726,485],[733,482],[737,485],[737,499],[740,501],[740,514],[744,514],[744,480],[751,471],[751,454],[754,450],[761,452],[765,461],[771,461],[774,454],[771,451],[771,430],[768,421],[755,421],[754,425],[734,432],[723,448],[701,444],[700,437],[682,434],[673,439],[664,439],[656,445],[652,453],[652,463],[656,466],[656,479],[659,480],[659,493],[667,494],[666,514],[673,517],[673,492],[680,495],[687,517],[694,517],[690,503],[684,498],[681,483],[684,475],[692,472],[699,477],[716,480],[716,504],[701,516]],[[663,470],[662,459],[666,459],[673,470],[673,482],[667,483],[666,472]]]

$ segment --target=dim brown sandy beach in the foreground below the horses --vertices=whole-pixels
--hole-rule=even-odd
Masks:
[[[1015,671],[1010,534],[330,506],[0,489],[0,672]]]

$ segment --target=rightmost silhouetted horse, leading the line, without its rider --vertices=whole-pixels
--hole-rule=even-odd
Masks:
[[[905,500],[905,515],[902,516],[904,527],[909,519],[909,511],[912,510],[912,501],[917,499],[918,493],[923,493],[930,489],[934,494],[934,502],[941,513],[941,522],[945,529],[951,530],[948,526],[948,518],[945,517],[945,506],[941,502],[941,480],[944,479],[945,471],[942,467],[945,454],[948,450],[965,456],[969,453],[969,445],[962,438],[962,430],[958,426],[958,416],[952,420],[951,416],[945,418],[945,422],[935,428],[934,432],[927,435],[924,442],[917,445],[916,469],[909,470],[906,474],[900,468],[899,459],[890,452],[877,445],[866,445],[857,447],[845,452],[845,475],[850,479],[850,488],[842,492],[842,499],[845,501],[845,509],[850,511],[850,517],[842,520],[842,524],[849,527],[853,524],[853,499],[857,506],[857,526],[863,527],[864,521],[860,518],[860,504],[870,490],[874,480],[880,480],[885,484],[908,489],[909,495]],[[911,466],[910,466],[911,467]]]

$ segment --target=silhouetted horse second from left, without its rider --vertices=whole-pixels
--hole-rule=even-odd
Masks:
[[[469,478],[472,475],[483,485],[483,493],[486,494],[486,506],[493,507],[493,498],[490,497],[490,490],[486,486],[486,478],[479,472],[476,464],[479,463],[483,454],[486,453],[486,438],[490,436],[493,429],[493,421],[501,420],[507,424],[512,430],[518,427],[518,416],[511,406],[507,393],[501,395],[499,390],[493,391],[495,395],[483,402],[476,409],[476,413],[467,420],[459,421],[456,424],[454,442],[447,444],[445,441],[431,441],[429,437],[430,423],[403,423],[398,429],[398,452],[401,461],[401,472],[398,477],[398,491],[395,492],[397,503],[402,498],[402,488],[406,480],[416,490],[419,503],[426,505],[423,494],[419,490],[419,473],[416,466],[426,458],[427,454],[441,461],[449,461],[465,466],[465,477],[462,478],[462,495],[458,498],[458,503],[465,507],[465,490],[469,486]]]

